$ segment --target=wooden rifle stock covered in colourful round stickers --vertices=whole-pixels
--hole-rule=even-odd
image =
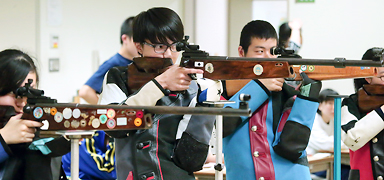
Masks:
[[[21,119],[43,122],[44,126],[41,129],[43,132],[148,129],[152,125],[152,115],[143,108],[38,103],[27,104]],[[12,106],[0,106],[0,127],[4,127],[14,115],[16,113]]]

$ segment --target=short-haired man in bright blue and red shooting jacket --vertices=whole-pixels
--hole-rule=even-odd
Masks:
[[[277,41],[270,23],[251,21],[241,32],[239,56],[274,58],[270,50]],[[246,84],[243,81],[245,86],[241,85],[243,88],[230,97],[232,82],[226,81],[226,94],[236,103],[225,107],[237,107],[240,94],[250,94],[249,108],[253,113],[250,118],[224,117],[227,179],[310,179],[305,149],[319,105],[321,82],[301,75],[304,80],[300,92],[283,78],[255,79]]]

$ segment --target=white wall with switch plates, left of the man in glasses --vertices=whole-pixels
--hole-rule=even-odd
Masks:
[[[40,88],[59,102],[71,102],[77,90],[94,73],[93,59],[100,64],[120,48],[120,26],[129,16],[151,7],[165,6],[183,15],[180,0],[61,0],[62,22],[50,26],[48,0],[40,0],[38,34],[41,67]],[[59,36],[59,48],[50,48],[50,36]],[[97,57],[97,56],[96,56]],[[48,59],[60,58],[60,71],[49,72]]]

